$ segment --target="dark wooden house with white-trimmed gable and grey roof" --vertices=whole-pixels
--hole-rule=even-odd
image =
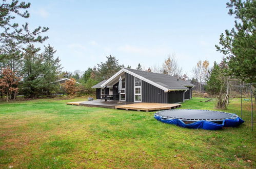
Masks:
[[[122,91],[118,93],[119,78]],[[123,68],[96,88],[96,98],[101,94],[116,95],[115,100],[127,102],[178,103],[192,98],[191,83],[170,75]]]

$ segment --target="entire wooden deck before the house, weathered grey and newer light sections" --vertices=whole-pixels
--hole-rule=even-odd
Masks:
[[[119,101],[103,101],[96,99],[92,101],[76,101],[67,102],[70,105],[84,105],[86,107],[100,107],[110,109],[125,109],[125,110],[137,110],[137,111],[156,111],[156,110],[168,110],[181,107],[181,104],[167,104],[167,103],[134,103],[134,102],[121,102]]]

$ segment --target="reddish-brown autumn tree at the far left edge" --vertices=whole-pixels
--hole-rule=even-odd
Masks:
[[[15,76],[15,72],[7,68],[3,70],[0,78],[0,91],[6,96],[6,101],[15,100],[18,93],[18,83],[21,78]]]

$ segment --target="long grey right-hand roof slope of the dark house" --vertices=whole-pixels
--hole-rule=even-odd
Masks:
[[[195,87],[195,85],[191,84],[190,82],[184,81],[182,79],[167,74],[153,73],[128,68],[125,69],[137,75],[140,75],[150,81],[153,81],[169,90],[187,90],[187,87]]]

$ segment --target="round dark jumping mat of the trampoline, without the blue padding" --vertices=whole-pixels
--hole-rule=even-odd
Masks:
[[[181,120],[223,120],[223,119],[233,119],[234,114],[209,111],[209,110],[189,110],[189,109],[179,109],[179,110],[167,110],[160,111],[156,113],[159,116],[166,118],[176,118]]]

